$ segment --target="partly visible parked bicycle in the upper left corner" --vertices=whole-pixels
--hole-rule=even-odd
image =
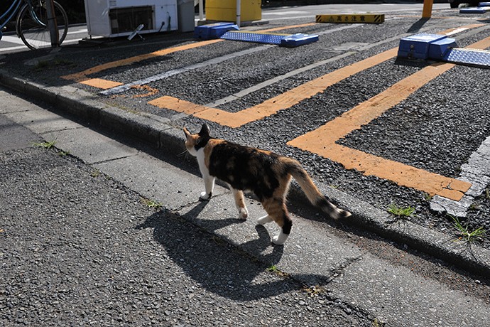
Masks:
[[[65,9],[58,2],[53,1],[53,4],[55,9],[53,16],[58,25],[58,44],[61,44],[68,31],[68,17]],[[17,16],[16,34],[28,48],[36,50],[51,46],[45,0],[14,0],[9,9],[0,16],[0,40],[1,31],[14,16]]]

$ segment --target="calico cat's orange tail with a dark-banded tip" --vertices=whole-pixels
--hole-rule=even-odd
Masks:
[[[325,196],[320,193],[315,183],[300,165],[298,161],[290,159],[288,162],[288,173],[293,176],[296,182],[300,185],[300,188],[305,192],[306,197],[312,205],[322,209],[325,213],[330,215],[333,219],[346,218],[351,215],[349,211],[337,208],[334,204],[330,203]]]

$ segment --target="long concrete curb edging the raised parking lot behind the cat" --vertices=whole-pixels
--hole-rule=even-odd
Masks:
[[[129,134],[163,151],[185,151],[183,132],[170,126],[168,119],[153,114],[125,112],[97,101],[96,96],[85,90],[72,86],[49,87],[15,77],[4,70],[0,70],[0,85],[47,102],[62,114],[70,114],[104,129]],[[407,220],[393,222],[393,217],[384,210],[322,183],[317,183],[317,186],[333,203],[352,212],[351,218],[347,218],[345,223],[370,230],[388,240],[404,243],[464,270],[490,276],[490,250],[467,242],[456,242],[450,235]],[[291,202],[308,203],[303,191],[295,183],[291,185],[289,195]]]

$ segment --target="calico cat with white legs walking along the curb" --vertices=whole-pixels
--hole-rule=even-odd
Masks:
[[[285,205],[291,177],[298,182],[308,200],[331,218],[351,215],[330,203],[318,191],[305,169],[294,159],[279,156],[271,151],[214,139],[209,136],[207,124],[202,125],[198,134],[190,134],[185,127],[184,133],[185,147],[192,156],[197,157],[205,181],[205,192],[201,193],[200,200],[209,200],[212,197],[214,179],[219,178],[229,184],[239,218],[246,219],[249,212],[245,206],[243,191],[253,192],[267,213],[258,218],[257,223],[264,225],[275,221],[281,227],[281,232],[272,239],[276,245],[284,244],[293,225]]]

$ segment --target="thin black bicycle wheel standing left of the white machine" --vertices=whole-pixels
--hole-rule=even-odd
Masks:
[[[61,44],[68,31],[68,17],[65,9],[54,1],[55,17],[58,24],[58,44]],[[48,27],[48,12],[45,1],[33,1],[33,11],[36,17],[31,15],[29,6],[26,4],[17,16],[17,35],[29,48],[36,50],[51,46],[51,36]],[[36,19],[38,18],[38,19]],[[42,23],[42,24],[40,24]]]

